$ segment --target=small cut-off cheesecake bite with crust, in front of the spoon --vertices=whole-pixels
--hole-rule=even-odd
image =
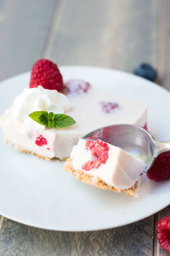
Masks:
[[[139,197],[146,164],[128,152],[101,140],[80,139],[64,170],[95,187]]]

